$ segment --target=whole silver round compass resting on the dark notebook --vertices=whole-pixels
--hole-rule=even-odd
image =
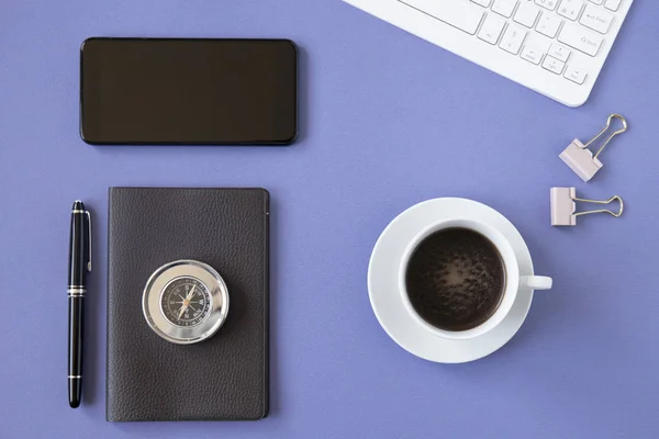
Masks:
[[[228,290],[211,266],[178,260],[150,275],[142,311],[159,337],[177,345],[196,344],[212,337],[226,320]]]

